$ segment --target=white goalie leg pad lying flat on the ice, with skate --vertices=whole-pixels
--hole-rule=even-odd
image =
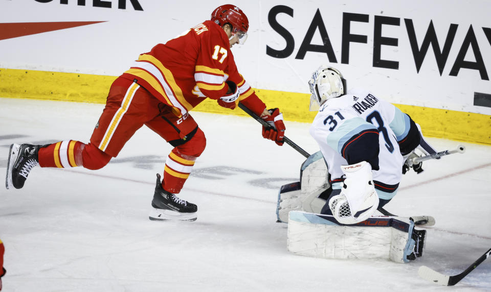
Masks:
[[[390,259],[406,263],[422,256],[426,230],[409,218],[373,216],[353,225],[332,215],[289,212],[288,251],[328,259]]]

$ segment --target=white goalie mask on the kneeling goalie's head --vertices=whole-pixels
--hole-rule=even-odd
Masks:
[[[341,72],[329,66],[320,66],[308,81],[310,87],[310,111],[318,111],[325,101],[346,94],[346,80]]]

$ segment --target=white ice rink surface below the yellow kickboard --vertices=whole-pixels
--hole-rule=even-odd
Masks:
[[[88,142],[103,105],[0,99],[0,172],[11,143]],[[180,194],[195,222],[148,220],[155,174],[171,150],[147,128],[98,171],[36,167],[23,189],[0,187],[4,290],[13,291],[491,291],[491,260],[453,287],[417,276],[420,265],[462,272],[491,246],[491,147],[423,163],[386,209],[432,215],[425,255],[408,264],[326,260],[286,250],[276,223],[282,184],[304,157],[264,140],[255,120],[192,113],[207,148]],[[286,136],[318,151],[307,124]],[[461,142],[430,138],[438,150]]]

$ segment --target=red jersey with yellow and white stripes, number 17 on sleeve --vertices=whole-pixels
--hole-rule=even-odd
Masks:
[[[121,77],[135,80],[181,116],[206,98],[226,95],[226,80],[237,84],[240,100],[260,114],[264,103],[235,65],[225,31],[207,20],[140,55]]]

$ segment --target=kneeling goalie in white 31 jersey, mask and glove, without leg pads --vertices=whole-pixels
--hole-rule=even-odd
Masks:
[[[341,72],[321,66],[309,81],[310,110],[319,110],[310,128],[328,166],[332,191],[322,214],[342,224],[366,220],[396,194],[405,165],[418,147],[436,151],[419,126],[397,107],[368,90],[347,90]]]

